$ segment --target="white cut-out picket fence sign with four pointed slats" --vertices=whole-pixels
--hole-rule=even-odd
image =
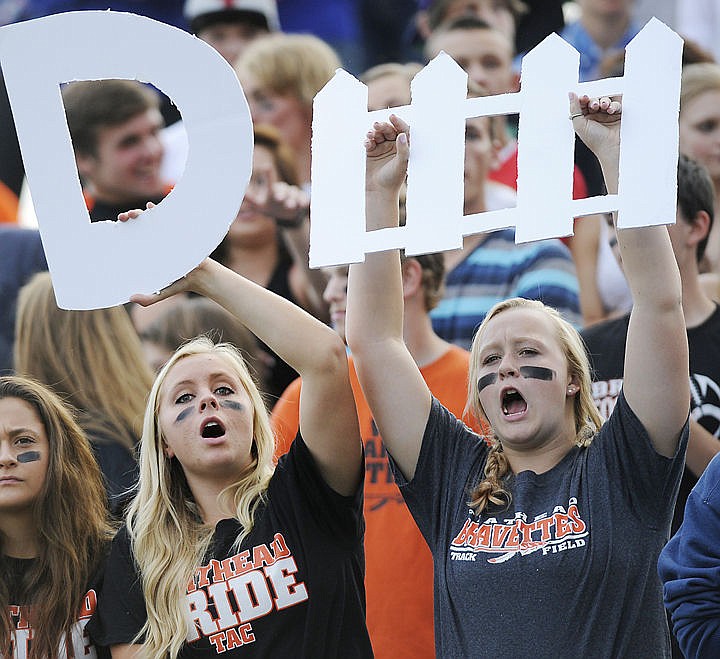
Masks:
[[[574,217],[610,210],[620,228],[674,222],[681,55],[682,39],[652,19],[627,48],[624,77],[579,83],[577,51],[553,34],[523,59],[519,92],[466,99],[467,76],[441,53],[413,80],[410,105],[376,112],[366,111],[367,88],[339,71],[315,98],[311,266],[393,248],[444,251],[511,226],[516,242],[563,237]],[[573,90],[623,95],[617,195],[572,199]],[[411,127],[406,224],[368,232],[361,145],[372,121],[390,113]],[[517,205],[463,217],[465,119],[512,113],[520,115]]]

